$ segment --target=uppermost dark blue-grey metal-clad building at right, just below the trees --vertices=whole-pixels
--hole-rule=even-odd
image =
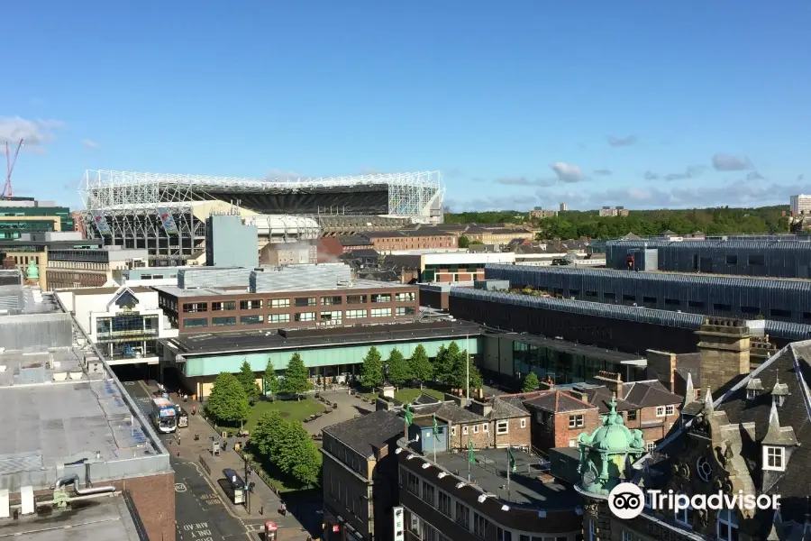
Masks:
[[[805,237],[807,238],[807,237]],[[811,242],[790,239],[606,242],[606,267],[779,278],[811,278]]]

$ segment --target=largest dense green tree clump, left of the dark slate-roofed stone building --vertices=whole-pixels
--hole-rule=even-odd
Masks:
[[[318,481],[318,448],[300,423],[281,417],[278,411],[265,413],[253,429],[251,443],[279,472],[302,485]]]

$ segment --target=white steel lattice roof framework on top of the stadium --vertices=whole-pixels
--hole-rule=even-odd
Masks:
[[[88,211],[167,206],[190,201],[238,200],[241,195],[295,196],[352,193],[387,187],[388,213],[416,222],[441,222],[442,175],[439,171],[378,173],[321,179],[241,179],[114,170],[87,170],[79,188]]]

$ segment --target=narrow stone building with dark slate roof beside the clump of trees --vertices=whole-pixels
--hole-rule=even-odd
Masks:
[[[323,428],[325,541],[391,541],[402,417],[379,410]]]

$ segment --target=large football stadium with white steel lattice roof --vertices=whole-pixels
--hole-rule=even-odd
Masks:
[[[88,238],[145,248],[170,264],[204,250],[209,215],[267,221],[277,242],[292,242],[340,234],[344,222],[352,232],[359,221],[442,223],[444,196],[439,171],[279,180],[87,170],[79,192]]]

